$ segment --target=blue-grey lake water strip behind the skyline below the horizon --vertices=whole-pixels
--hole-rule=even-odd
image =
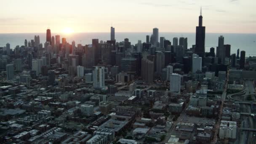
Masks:
[[[11,44],[11,48],[15,48],[16,45],[24,45],[24,40],[27,41],[34,39],[35,35],[40,36],[40,43],[44,43],[46,40],[46,33],[12,33],[12,34],[0,34],[0,47],[5,46],[6,43]],[[57,35],[52,33],[52,35]],[[66,37],[69,43],[75,40],[76,44],[81,43],[91,44],[93,38],[107,41],[110,39],[110,33],[108,32],[96,32],[96,33],[73,33],[73,34],[58,34],[61,37]],[[128,38],[131,44],[135,45],[138,40],[142,42],[146,41],[146,35],[151,35],[150,32],[116,32],[115,39],[117,42],[124,41]],[[215,48],[218,45],[218,37],[224,36],[224,43],[231,45],[231,54],[237,53],[237,48],[240,51],[245,51],[246,56],[256,56],[256,34],[220,34],[220,33],[206,33],[205,34],[205,51],[210,51],[211,47]],[[171,33],[164,32],[159,33],[159,37],[165,37],[165,39],[173,41],[173,37],[187,37],[188,48],[195,44],[195,33]]]

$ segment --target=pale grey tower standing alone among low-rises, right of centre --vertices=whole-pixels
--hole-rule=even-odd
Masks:
[[[180,93],[181,90],[181,75],[172,73],[170,75],[170,91],[172,93]]]

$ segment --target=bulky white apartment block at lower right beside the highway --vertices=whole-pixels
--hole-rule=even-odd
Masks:
[[[236,139],[237,122],[221,120],[219,127],[219,137],[221,139],[230,138]]]

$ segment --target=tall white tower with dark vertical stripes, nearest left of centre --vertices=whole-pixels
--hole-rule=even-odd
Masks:
[[[93,87],[104,88],[104,86],[105,86],[104,67],[95,66],[93,70]]]

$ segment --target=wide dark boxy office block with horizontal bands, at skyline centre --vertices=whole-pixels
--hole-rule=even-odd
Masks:
[[[122,72],[137,72],[137,59],[136,58],[122,58],[121,71]]]

